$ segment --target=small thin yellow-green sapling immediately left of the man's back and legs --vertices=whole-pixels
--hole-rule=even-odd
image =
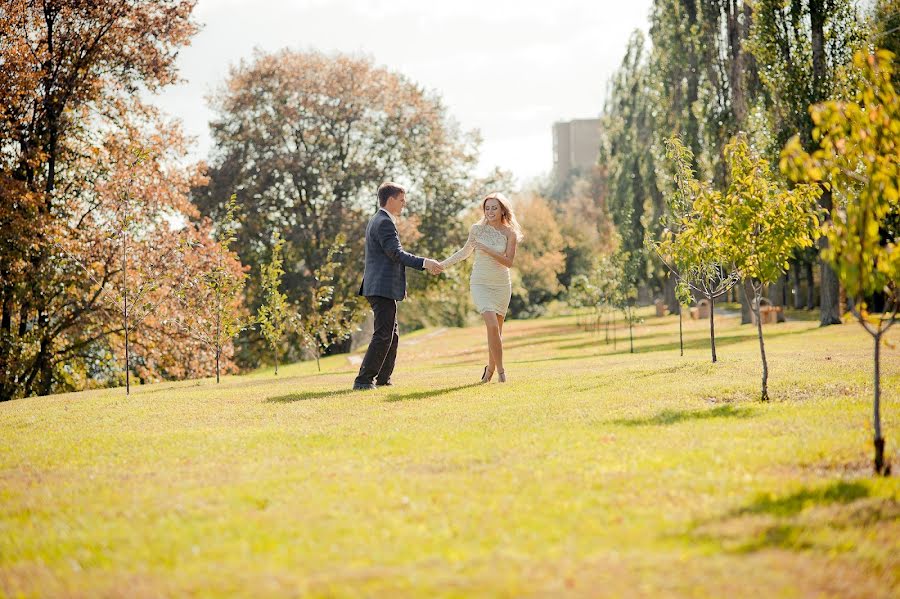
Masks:
[[[322,352],[349,337],[360,320],[355,306],[336,300],[335,296],[336,280],[342,266],[340,255],[346,251],[346,244],[346,238],[338,235],[328,249],[325,262],[313,273],[310,308],[294,317],[294,328],[300,335],[300,342],[313,354],[320,372]]]

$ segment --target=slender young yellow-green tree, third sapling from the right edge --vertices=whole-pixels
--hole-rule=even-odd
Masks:
[[[671,216],[653,246],[677,279],[678,296],[685,300],[697,294],[709,302],[709,341],[715,362],[715,300],[739,279],[722,238],[722,194],[710,183],[697,180],[691,151],[677,137],[666,140],[666,156],[675,172],[675,188],[669,198]]]

